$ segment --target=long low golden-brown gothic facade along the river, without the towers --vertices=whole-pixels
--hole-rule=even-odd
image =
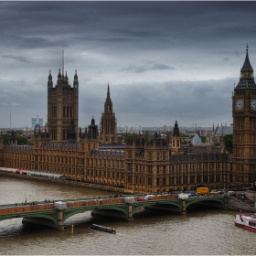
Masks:
[[[228,187],[228,155],[194,153],[170,155],[169,138],[155,133],[126,139],[123,148],[102,149],[99,138],[80,134],[79,143],[58,143],[37,133],[34,145],[7,145],[2,166],[63,174],[71,180],[123,187],[126,192]]]

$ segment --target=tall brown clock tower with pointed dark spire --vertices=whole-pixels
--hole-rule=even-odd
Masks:
[[[233,176],[231,184],[240,187],[254,182],[256,171],[256,84],[246,48],[240,81],[232,97]]]

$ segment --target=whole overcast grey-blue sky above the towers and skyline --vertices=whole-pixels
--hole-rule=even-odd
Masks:
[[[47,119],[48,73],[80,83],[80,126],[100,124],[110,84],[118,126],[232,123],[256,2],[0,2],[0,127]],[[11,120],[10,120],[11,113]]]

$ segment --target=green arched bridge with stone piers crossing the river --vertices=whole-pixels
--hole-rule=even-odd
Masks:
[[[64,222],[71,216],[91,211],[91,214],[102,214],[133,221],[133,214],[141,208],[156,208],[159,210],[187,213],[192,205],[208,205],[225,208],[225,197],[191,197],[178,198],[177,195],[150,197],[140,201],[139,197],[108,197],[95,199],[93,197],[59,200],[62,204],[38,202],[36,205],[0,205],[0,221],[5,219],[23,218],[22,222],[32,222],[46,225],[54,229],[64,229]]]

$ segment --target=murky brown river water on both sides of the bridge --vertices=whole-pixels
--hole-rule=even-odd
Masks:
[[[0,176],[0,205],[44,199],[112,195],[111,192]],[[0,221],[1,255],[238,255],[256,254],[256,233],[234,225],[235,211],[197,209],[187,215],[142,211],[134,221],[75,215],[63,231]],[[89,229],[113,227],[116,234]],[[73,225],[73,233],[71,233]]]

